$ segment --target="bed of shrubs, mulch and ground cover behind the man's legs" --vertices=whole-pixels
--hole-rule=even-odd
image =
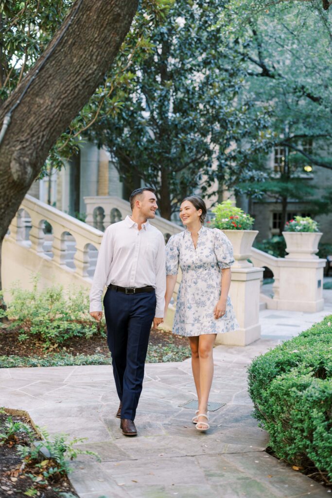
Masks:
[[[86,291],[38,290],[37,280],[31,291],[15,285],[7,310],[0,310],[0,368],[111,364],[105,320],[98,324],[88,310]],[[190,355],[186,338],[151,330],[147,363]]]

